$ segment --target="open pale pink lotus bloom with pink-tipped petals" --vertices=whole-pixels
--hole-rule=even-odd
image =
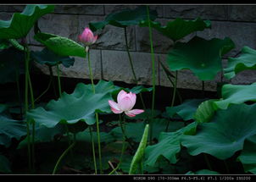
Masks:
[[[136,103],[135,93],[126,93],[125,91],[120,91],[117,96],[117,102],[109,100],[109,106],[113,113],[123,113],[129,117],[135,117],[136,114],[143,113],[142,109],[132,109]]]

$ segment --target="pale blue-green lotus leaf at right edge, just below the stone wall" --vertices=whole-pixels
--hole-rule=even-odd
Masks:
[[[214,102],[214,108],[226,109],[230,104],[240,104],[242,102],[256,102],[256,83],[251,85],[223,85],[222,99]]]

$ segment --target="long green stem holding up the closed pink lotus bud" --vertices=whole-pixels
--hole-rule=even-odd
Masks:
[[[92,67],[91,67],[91,61],[90,61],[90,51],[86,52],[88,54],[88,67],[90,72],[90,78],[92,82],[92,91],[95,94],[95,87],[93,84],[93,75],[92,75]],[[103,164],[102,164],[102,152],[101,152],[101,145],[100,145],[100,135],[99,135],[99,124],[98,124],[98,113],[95,113],[96,116],[96,127],[97,127],[97,150],[98,150],[98,160],[99,160],[99,171],[100,174],[103,174]]]

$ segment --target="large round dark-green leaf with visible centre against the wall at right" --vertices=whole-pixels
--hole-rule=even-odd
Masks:
[[[177,42],[167,63],[172,71],[191,69],[200,80],[213,80],[222,69],[221,57],[234,47],[230,38],[205,40],[195,36],[186,43]]]

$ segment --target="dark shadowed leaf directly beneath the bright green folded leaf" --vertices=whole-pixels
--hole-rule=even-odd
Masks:
[[[58,63],[62,63],[66,68],[73,66],[75,62],[75,58],[59,56],[47,48],[44,48],[41,52],[31,51],[31,58],[34,58],[37,63],[46,64],[48,66],[55,66]]]

